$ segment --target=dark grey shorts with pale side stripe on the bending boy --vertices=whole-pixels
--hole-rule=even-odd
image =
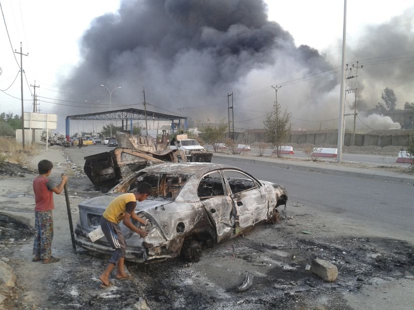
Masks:
[[[115,249],[108,262],[117,264],[121,257],[125,257],[125,249],[127,247],[121,227],[119,227],[117,223],[108,221],[102,216],[100,218],[100,228],[107,238],[108,243],[111,244],[113,249]]]

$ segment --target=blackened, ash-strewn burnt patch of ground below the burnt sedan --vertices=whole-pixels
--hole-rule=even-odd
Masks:
[[[257,241],[268,235],[277,235],[277,241]],[[337,281],[324,282],[305,270],[317,257],[337,265]],[[114,286],[100,290],[97,276],[105,266],[104,258],[83,251],[62,263],[47,283],[49,302],[59,308],[113,309],[145,297],[151,309],[352,309],[344,294],[413,274],[414,248],[392,239],[292,237],[289,226],[279,223],[205,249],[192,264],[128,263],[134,281],[113,280]],[[254,275],[253,285],[237,292],[246,271]]]

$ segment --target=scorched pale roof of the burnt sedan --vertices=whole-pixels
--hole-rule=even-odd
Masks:
[[[232,169],[239,170],[238,168],[233,167],[233,166],[219,165],[219,164],[214,164],[214,163],[179,163],[179,164],[166,163],[166,164],[160,164],[160,165],[148,167],[148,168],[143,169],[142,171],[194,175],[197,172],[204,173],[204,172],[209,172],[215,169],[223,169],[223,168],[232,168]]]

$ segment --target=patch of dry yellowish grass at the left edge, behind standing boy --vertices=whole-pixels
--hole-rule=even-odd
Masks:
[[[22,143],[16,142],[15,138],[0,136],[0,161],[24,165],[27,156],[35,154],[36,150],[36,143],[25,145],[23,150]]]

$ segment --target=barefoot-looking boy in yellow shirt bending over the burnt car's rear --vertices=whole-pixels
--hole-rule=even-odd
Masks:
[[[104,232],[105,237],[115,251],[112,254],[112,257],[108,260],[108,267],[105,269],[104,273],[99,276],[99,280],[102,281],[99,287],[107,288],[111,286],[109,276],[117,263],[118,268],[117,275],[115,277],[117,279],[128,278],[124,265],[126,244],[124,235],[122,234],[121,228],[118,224],[122,221],[126,227],[132,231],[135,231],[142,238],[147,236],[148,233],[145,230],[135,227],[135,225],[131,222],[131,218],[144,225],[148,224],[149,220],[144,221],[135,214],[134,210],[137,206],[137,201],[142,202],[147,199],[148,196],[151,196],[151,194],[151,185],[145,182],[140,183],[135,193],[122,194],[115,198],[105,210],[104,215],[101,217],[100,227],[102,232]]]

